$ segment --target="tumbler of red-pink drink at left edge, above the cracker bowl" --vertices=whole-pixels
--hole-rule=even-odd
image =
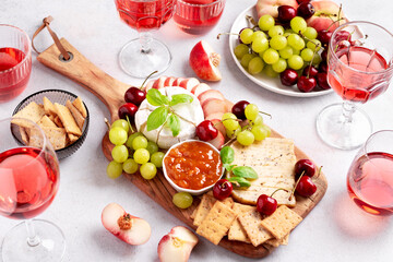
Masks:
[[[32,72],[32,46],[27,34],[0,24],[0,103],[20,95]]]

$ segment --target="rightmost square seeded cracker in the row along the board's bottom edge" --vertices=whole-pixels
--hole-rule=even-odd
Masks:
[[[302,221],[295,211],[286,205],[279,206],[272,215],[264,218],[261,225],[275,238],[282,239]]]

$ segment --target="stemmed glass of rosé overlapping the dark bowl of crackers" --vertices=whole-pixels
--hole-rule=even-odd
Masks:
[[[0,215],[24,219],[4,237],[2,261],[61,261],[66,240],[55,224],[32,219],[53,201],[59,163],[44,131],[22,118],[0,120]]]

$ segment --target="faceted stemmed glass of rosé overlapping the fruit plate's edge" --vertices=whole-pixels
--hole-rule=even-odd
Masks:
[[[380,25],[355,21],[337,27],[330,39],[327,82],[343,104],[325,107],[317,118],[320,138],[331,146],[354,150],[372,132],[366,103],[386,91],[393,74],[393,35]]]

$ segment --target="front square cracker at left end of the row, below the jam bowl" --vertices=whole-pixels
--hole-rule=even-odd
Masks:
[[[226,204],[216,201],[207,216],[196,228],[196,234],[218,245],[236,218],[236,213]]]

